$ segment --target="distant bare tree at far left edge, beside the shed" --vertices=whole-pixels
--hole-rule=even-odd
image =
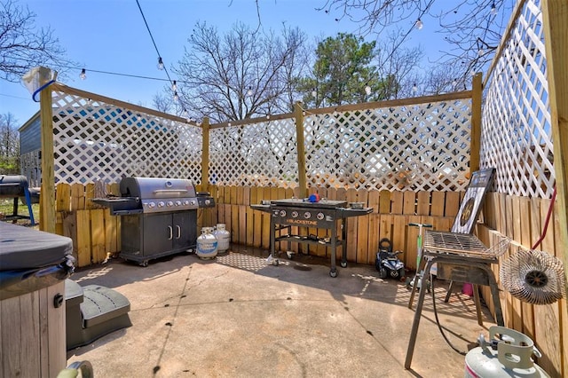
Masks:
[[[20,138],[13,114],[0,114],[0,174],[20,172]]]

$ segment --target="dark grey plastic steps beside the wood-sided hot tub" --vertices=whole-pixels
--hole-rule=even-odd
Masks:
[[[65,280],[67,350],[130,327],[130,302],[119,292],[99,285],[79,286]]]

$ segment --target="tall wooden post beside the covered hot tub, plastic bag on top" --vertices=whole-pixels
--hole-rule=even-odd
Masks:
[[[45,68],[48,69],[48,68]],[[42,121],[42,188],[40,195],[40,230],[55,233],[55,171],[53,157],[53,111],[51,85],[40,92],[40,118]]]

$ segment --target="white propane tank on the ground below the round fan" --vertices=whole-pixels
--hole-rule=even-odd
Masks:
[[[497,339],[495,335],[501,335]],[[548,377],[533,361],[540,351],[528,336],[506,327],[489,327],[489,340],[479,335],[479,346],[465,356],[465,377]]]

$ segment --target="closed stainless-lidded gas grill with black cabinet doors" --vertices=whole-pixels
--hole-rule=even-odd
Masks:
[[[197,210],[215,206],[209,193],[196,193],[191,180],[124,177],[120,197],[92,201],[121,218],[121,253],[143,266],[148,260],[194,249]]]

